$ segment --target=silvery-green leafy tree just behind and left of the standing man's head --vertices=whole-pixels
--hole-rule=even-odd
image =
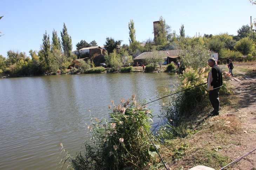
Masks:
[[[205,67],[207,61],[210,58],[209,50],[203,46],[188,46],[186,50],[183,50],[180,54],[181,65],[186,67]]]

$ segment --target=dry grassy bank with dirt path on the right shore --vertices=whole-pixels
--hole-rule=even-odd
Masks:
[[[256,76],[255,62],[235,62],[234,65],[237,79]],[[225,65],[220,67],[228,71]],[[256,82],[233,79],[231,85],[234,95],[220,95],[220,116],[208,117],[210,107],[206,107],[199,115],[190,117],[190,125],[184,128],[185,136],[165,140],[161,145],[161,155],[170,169],[183,170],[196,165],[221,169],[256,147],[256,126],[253,124]],[[230,169],[255,170],[255,155],[244,158]],[[154,165],[157,169],[164,168],[159,158]]]

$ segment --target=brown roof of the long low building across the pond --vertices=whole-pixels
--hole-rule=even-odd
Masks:
[[[164,56],[163,58],[177,58],[181,50],[167,50],[167,51],[156,51],[158,56]],[[153,55],[154,52],[143,52],[139,56],[135,57],[134,60],[144,59],[147,56]]]

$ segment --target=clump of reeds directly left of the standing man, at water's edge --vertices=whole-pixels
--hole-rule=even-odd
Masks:
[[[186,68],[186,71],[179,76],[181,86],[177,91],[182,91],[173,96],[170,105],[164,106],[163,116],[168,120],[170,125],[178,127],[181,122],[189,121],[189,117],[193,114],[198,114],[198,111],[202,111],[207,106],[208,96],[205,93],[206,87],[198,86],[191,88],[206,82],[207,73],[204,73],[205,68]],[[191,88],[191,89],[189,89]]]

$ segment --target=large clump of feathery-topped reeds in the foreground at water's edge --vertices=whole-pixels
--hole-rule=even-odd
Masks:
[[[113,104],[113,112],[106,119],[91,119],[88,125],[90,140],[84,142],[83,151],[71,156],[64,148],[61,162],[69,162],[71,169],[108,170],[146,168],[150,155],[149,137],[151,111],[131,99]],[[110,105],[109,108],[112,106]],[[152,136],[152,135],[151,135]]]

